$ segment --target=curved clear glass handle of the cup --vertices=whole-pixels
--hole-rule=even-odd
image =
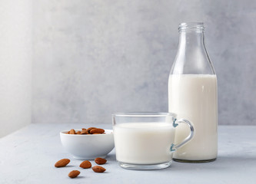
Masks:
[[[190,128],[190,134],[186,137],[186,139],[182,143],[179,143],[179,144],[172,143],[171,144],[171,152],[175,152],[176,149],[180,148],[181,146],[184,146],[194,136],[194,126],[192,125],[192,123],[190,123],[188,120],[185,120],[185,119],[180,119],[180,120],[175,119],[173,122],[173,126],[176,127],[176,126],[178,126],[179,123],[186,123]]]

